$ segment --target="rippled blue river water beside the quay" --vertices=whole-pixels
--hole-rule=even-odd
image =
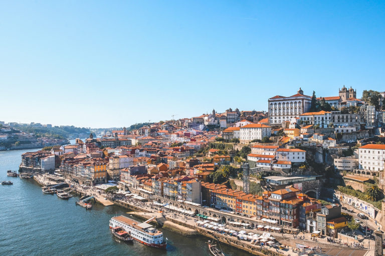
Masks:
[[[93,203],[85,210],[75,205],[75,197],[62,200],[43,194],[32,179],[8,177],[7,170],[18,170],[27,151],[34,149],[0,151],[0,180],[14,182],[0,185],[0,255],[210,255],[207,237],[189,238],[161,228],[168,238],[166,250],[117,241],[108,221],[129,209]],[[249,255],[221,246],[229,256]]]

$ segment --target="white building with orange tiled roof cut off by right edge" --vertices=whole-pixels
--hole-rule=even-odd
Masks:
[[[385,160],[384,144],[366,144],[358,148],[359,168],[364,170],[383,170]]]

